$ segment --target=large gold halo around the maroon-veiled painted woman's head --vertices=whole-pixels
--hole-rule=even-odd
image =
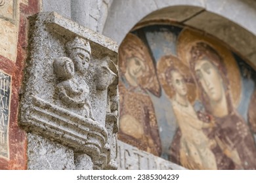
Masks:
[[[217,39],[213,39],[212,37],[203,35],[198,31],[183,29],[177,41],[177,54],[179,58],[189,67],[190,50],[192,46],[198,42],[205,42],[206,44],[209,44],[209,46],[216,50],[221,58],[223,58],[223,64],[227,71],[226,78],[229,81],[231,99],[234,106],[237,107],[241,99],[240,71],[234,56],[230,50],[223,45],[222,42],[217,41]]]

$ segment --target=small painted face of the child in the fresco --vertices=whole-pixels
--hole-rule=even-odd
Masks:
[[[179,73],[178,71],[171,71],[171,82],[173,84],[175,92],[177,92],[181,96],[186,95],[188,90],[186,88],[186,84],[181,73]]]

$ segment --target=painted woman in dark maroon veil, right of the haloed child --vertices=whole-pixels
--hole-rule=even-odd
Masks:
[[[233,106],[221,56],[206,42],[196,42],[190,50],[190,68],[202,91],[200,97],[205,110],[216,124],[211,137],[216,139],[223,154],[232,159],[236,169],[256,169],[255,142]]]

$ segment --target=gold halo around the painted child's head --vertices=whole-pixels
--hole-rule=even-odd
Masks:
[[[190,101],[190,103],[194,103],[198,92],[196,84],[194,83],[192,75],[190,74],[190,70],[186,65],[184,65],[184,63],[182,63],[182,61],[180,61],[179,58],[172,55],[162,56],[157,65],[158,78],[160,80],[161,86],[163,87],[163,90],[165,90],[165,93],[170,99],[172,99],[173,95],[175,94],[173,87],[168,83],[168,78],[166,78],[165,75],[166,71],[169,69],[178,70],[187,81],[186,86],[188,88],[188,101]]]

